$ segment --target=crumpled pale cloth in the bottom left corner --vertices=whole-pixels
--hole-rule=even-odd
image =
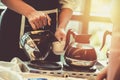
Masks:
[[[19,58],[15,57],[10,62],[0,61],[0,80],[23,80],[21,72],[29,72],[29,68]]]

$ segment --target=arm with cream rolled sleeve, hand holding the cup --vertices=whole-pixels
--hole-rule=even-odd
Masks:
[[[73,10],[76,7],[75,3],[75,0],[60,0],[62,7],[58,19],[57,31],[55,33],[55,36],[59,41],[65,40],[66,38],[65,28],[72,17]]]

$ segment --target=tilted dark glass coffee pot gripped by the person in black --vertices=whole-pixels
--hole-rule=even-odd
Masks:
[[[54,34],[49,30],[26,32],[20,44],[30,60],[44,61],[52,50],[52,43],[56,41]]]

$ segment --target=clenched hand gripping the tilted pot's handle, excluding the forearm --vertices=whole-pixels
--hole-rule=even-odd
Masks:
[[[46,25],[51,25],[51,18],[42,11],[34,11],[28,15],[27,18],[33,30],[37,30]]]

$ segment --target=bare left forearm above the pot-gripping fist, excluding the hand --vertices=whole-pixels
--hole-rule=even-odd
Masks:
[[[36,11],[34,8],[23,2],[23,0],[1,0],[1,1],[11,10],[19,14],[25,15],[26,17],[28,17],[28,15],[30,15],[31,12]]]

